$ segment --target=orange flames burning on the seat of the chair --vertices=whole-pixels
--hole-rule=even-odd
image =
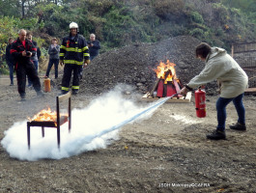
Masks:
[[[56,122],[57,120],[57,113],[56,111],[51,111],[50,108],[43,109],[33,118],[28,118],[30,122],[37,121],[37,122]]]

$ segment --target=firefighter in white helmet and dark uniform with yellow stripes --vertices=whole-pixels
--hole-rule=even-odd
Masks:
[[[79,91],[79,71],[89,65],[89,49],[83,36],[78,35],[78,25],[70,24],[70,35],[65,37],[60,47],[60,65],[64,67],[62,79],[62,94],[67,94],[70,89],[72,77],[72,95]],[[84,61],[84,62],[83,62]]]

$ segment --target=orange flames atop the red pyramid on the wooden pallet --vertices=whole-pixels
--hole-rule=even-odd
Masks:
[[[166,64],[160,61],[160,64],[157,66],[156,69],[156,76],[157,78],[165,78],[165,82],[167,81],[172,81],[172,79],[178,79],[176,76],[176,70],[175,67],[176,65],[174,63],[171,63],[169,60],[167,60]],[[167,77],[165,77],[166,72],[169,71]]]

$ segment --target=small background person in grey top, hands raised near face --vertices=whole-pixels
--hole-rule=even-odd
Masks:
[[[45,78],[49,76],[50,69],[54,65],[55,69],[55,78],[58,78],[58,65],[59,65],[59,54],[60,54],[60,45],[58,45],[57,39],[53,38],[51,44],[48,48],[49,54],[49,63],[45,73]]]

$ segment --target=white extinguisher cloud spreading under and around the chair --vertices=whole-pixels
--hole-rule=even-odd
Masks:
[[[105,148],[110,139],[118,139],[118,129],[134,121],[148,119],[168,97],[146,107],[139,107],[114,90],[94,99],[88,107],[72,110],[71,133],[68,124],[61,126],[61,149],[57,148],[55,128],[31,127],[31,150],[27,147],[26,122],[15,123],[5,131],[2,146],[10,156],[35,161],[42,158],[61,159],[81,152]]]

